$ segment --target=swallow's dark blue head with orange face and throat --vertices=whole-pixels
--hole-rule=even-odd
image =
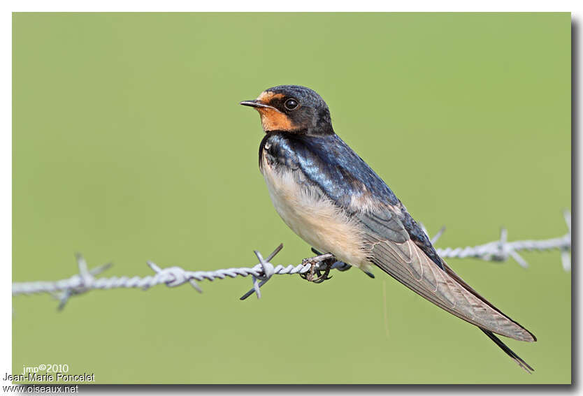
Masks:
[[[240,104],[255,108],[266,132],[286,131],[308,135],[334,133],[326,102],[299,85],[279,85],[261,92],[257,99]]]

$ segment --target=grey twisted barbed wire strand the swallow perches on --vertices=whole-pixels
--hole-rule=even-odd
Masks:
[[[552,249],[559,249],[561,251],[561,261],[563,269],[570,270],[571,258],[571,214],[568,211],[563,212],[565,221],[567,223],[568,233],[562,237],[551,238],[547,240],[523,240],[508,242],[508,231],[505,228],[501,230],[499,240],[487,242],[485,244],[474,247],[457,247],[436,249],[442,258],[478,258],[483,261],[502,262],[507,261],[508,258],[513,258],[521,267],[528,267],[528,264],[522,258],[518,251],[547,251]],[[425,230],[425,228],[424,228]],[[431,242],[436,243],[439,237],[444,232],[445,228],[441,228],[438,233],[432,238]],[[426,231],[425,231],[426,232]],[[429,234],[428,234],[429,235]],[[112,288],[141,288],[147,290],[152,286],[165,284],[168,287],[180,286],[185,283],[202,293],[197,282],[203,280],[214,281],[215,279],[226,279],[227,277],[252,277],[252,288],[247,291],[240,300],[245,300],[253,293],[257,298],[261,298],[261,286],[273,277],[273,275],[282,274],[305,274],[321,271],[326,271],[324,279],[329,270],[345,271],[349,270],[351,265],[342,263],[340,261],[333,261],[331,254],[323,254],[312,258],[307,258],[298,265],[273,265],[271,261],[277,255],[283,244],[280,244],[269,256],[264,258],[259,251],[254,251],[259,263],[253,267],[233,267],[214,271],[188,271],[182,267],[173,266],[161,268],[152,261],[147,261],[147,265],[154,271],[153,275],[145,277],[96,277],[103,271],[111,267],[111,263],[100,265],[89,270],[85,258],[77,254],[78,274],[72,277],[61,279],[58,281],[29,281],[29,282],[14,282],[12,284],[12,294],[15,295],[29,295],[35,293],[50,293],[57,300],[59,300],[59,309],[63,309],[66,302],[74,295],[80,295],[96,289],[112,289]],[[317,252],[319,254],[319,252]],[[370,277],[373,274],[368,273]],[[309,278],[311,279],[311,278]]]

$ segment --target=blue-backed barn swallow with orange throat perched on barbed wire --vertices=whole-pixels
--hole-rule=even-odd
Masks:
[[[312,89],[280,85],[241,105],[265,131],[259,169],[275,210],[319,251],[368,272],[372,265],[415,293],[476,325],[526,372],[534,369],[497,335],[536,337],[466,284],[382,179],[341,140]]]

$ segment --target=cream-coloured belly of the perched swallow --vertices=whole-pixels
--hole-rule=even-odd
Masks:
[[[263,163],[263,174],[275,210],[294,233],[312,247],[340,261],[368,268],[358,222],[350,219],[328,198],[301,187],[292,172],[275,173]]]

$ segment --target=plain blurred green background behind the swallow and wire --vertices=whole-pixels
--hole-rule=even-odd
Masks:
[[[113,261],[213,270],[309,247],[257,168],[273,85],[315,89],[336,132],[438,247],[558,237],[570,207],[570,14],[13,15],[13,280]],[[524,373],[472,325],[375,271],[13,299],[13,365],[98,383],[569,383],[570,273],[449,263],[524,324]],[[383,287],[386,299],[383,298]],[[384,306],[387,327],[385,328]]]

